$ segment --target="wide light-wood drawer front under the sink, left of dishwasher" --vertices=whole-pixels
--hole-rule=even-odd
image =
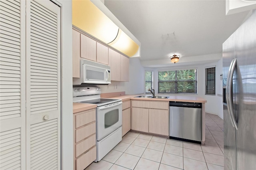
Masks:
[[[169,108],[169,102],[163,101],[138,101],[132,100],[132,107],[139,107],[139,108],[155,108],[155,109],[166,109]]]

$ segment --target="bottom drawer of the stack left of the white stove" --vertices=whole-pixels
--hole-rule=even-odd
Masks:
[[[76,170],[84,170],[96,160],[96,146],[76,160]]]

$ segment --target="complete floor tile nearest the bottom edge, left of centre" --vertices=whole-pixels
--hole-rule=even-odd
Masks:
[[[123,166],[128,169],[134,169],[138,161],[140,160],[140,157],[138,156],[133,156],[130,154],[122,154],[120,158],[116,161],[115,164],[119,166]]]

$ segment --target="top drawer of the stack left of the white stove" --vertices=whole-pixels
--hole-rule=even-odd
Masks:
[[[91,110],[80,112],[75,116],[75,119],[76,119],[76,128],[79,128],[80,126],[86,125],[96,120],[96,110],[91,109]]]

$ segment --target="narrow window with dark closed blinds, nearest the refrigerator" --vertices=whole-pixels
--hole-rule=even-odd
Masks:
[[[205,69],[205,94],[215,95],[215,67]]]

